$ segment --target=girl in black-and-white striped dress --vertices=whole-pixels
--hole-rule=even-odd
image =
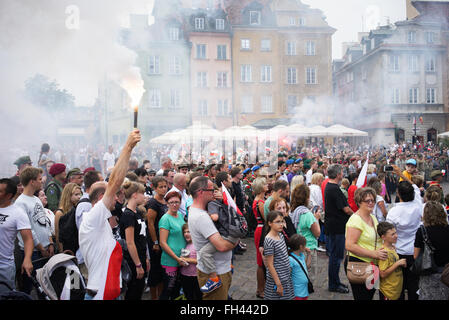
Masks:
[[[293,300],[294,290],[290,274],[290,261],[282,230],[284,216],[279,211],[270,211],[266,221],[267,235],[263,254],[267,267],[264,299]]]

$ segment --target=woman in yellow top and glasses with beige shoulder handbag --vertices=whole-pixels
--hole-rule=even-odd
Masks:
[[[378,222],[372,214],[376,205],[376,191],[372,188],[357,189],[354,200],[359,210],[346,223],[346,276],[354,300],[372,300],[376,292],[375,283],[379,281],[377,260],[387,259],[387,252],[377,235]],[[372,286],[368,286],[369,283]]]

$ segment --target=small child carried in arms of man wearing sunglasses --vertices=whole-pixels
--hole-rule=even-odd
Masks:
[[[226,222],[228,222],[228,217],[221,217],[220,213],[223,212],[219,208],[222,205],[220,201],[214,200],[208,203],[207,205],[207,212],[209,213],[210,218],[214,222],[215,226],[217,227],[218,232],[220,233],[221,237],[225,240],[230,241],[233,244],[237,244],[240,239],[234,238],[229,235],[229,231],[226,227]],[[201,260],[203,261],[203,267],[204,271],[209,274],[209,279],[206,281],[204,286],[201,287],[201,292],[203,293],[209,293],[214,291],[215,289],[218,289],[222,282],[220,280],[220,277],[215,272],[216,266],[215,266],[215,259],[214,254],[217,252],[217,249],[214,247],[212,243],[206,244],[204,247],[201,248],[201,250],[198,252],[198,255],[201,256]],[[231,265],[232,268],[232,265]]]

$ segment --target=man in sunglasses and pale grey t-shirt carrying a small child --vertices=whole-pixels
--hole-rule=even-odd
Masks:
[[[204,300],[227,300],[231,287],[231,259],[235,245],[223,239],[206,211],[207,204],[214,200],[214,185],[207,177],[200,176],[192,180],[189,187],[193,204],[189,209],[188,225],[196,252],[199,252],[209,242],[217,252],[214,254],[216,273],[222,285],[212,292],[203,295]],[[238,243],[238,242],[237,242]],[[198,284],[200,288],[209,279],[209,274],[203,270],[203,261],[198,256]]]

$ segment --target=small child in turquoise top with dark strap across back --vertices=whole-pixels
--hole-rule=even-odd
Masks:
[[[290,267],[292,269],[292,281],[295,291],[294,300],[307,300],[309,298],[309,279],[305,273],[308,272],[307,268],[309,266],[306,263],[305,253],[309,256],[310,249],[306,247],[306,243],[306,238],[300,234],[294,234],[288,242],[290,247]],[[299,263],[301,263],[302,268]]]

